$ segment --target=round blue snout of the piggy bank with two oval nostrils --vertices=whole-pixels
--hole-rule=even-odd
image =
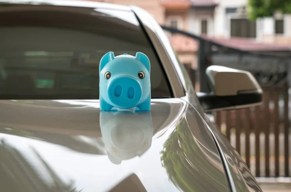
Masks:
[[[142,98],[140,83],[133,77],[120,75],[108,85],[108,99],[121,108],[135,106]]]

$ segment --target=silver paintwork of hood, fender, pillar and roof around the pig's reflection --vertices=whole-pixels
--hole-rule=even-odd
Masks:
[[[82,1],[35,2],[130,10]],[[146,15],[135,13],[146,20]],[[165,35],[155,21],[148,21],[143,22],[148,25],[146,32],[151,40],[159,40],[153,44],[177,98],[152,100],[153,139],[146,152],[117,165],[109,160],[98,100],[0,101],[3,191],[261,191],[242,159],[203,113]]]

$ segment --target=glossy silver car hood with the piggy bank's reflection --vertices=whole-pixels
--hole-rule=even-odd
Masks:
[[[182,99],[150,112],[98,100],[0,101],[0,185],[9,192],[228,191],[217,148]]]

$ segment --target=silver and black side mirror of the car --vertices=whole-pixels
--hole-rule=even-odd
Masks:
[[[206,75],[211,93],[196,93],[206,112],[248,108],[262,103],[263,91],[250,72],[211,65]]]

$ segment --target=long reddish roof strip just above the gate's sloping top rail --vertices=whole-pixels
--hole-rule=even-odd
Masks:
[[[239,37],[231,38],[217,38],[217,37],[215,38],[207,36],[203,37],[215,43],[229,46],[231,48],[240,49],[243,51],[291,51],[291,44],[267,44]]]

